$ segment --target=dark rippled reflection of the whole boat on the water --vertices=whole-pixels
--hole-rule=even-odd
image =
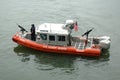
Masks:
[[[49,71],[60,68],[65,73],[72,73],[76,69],[75,63],[84,62],[85,66],[100,67],[108,65],[109,53],[102,55],[99,58],[50,54],[40,51],[35,51],[23,46],[14,48],[14,52],[20,56],[22,62],[32,61],[38,70]]]

